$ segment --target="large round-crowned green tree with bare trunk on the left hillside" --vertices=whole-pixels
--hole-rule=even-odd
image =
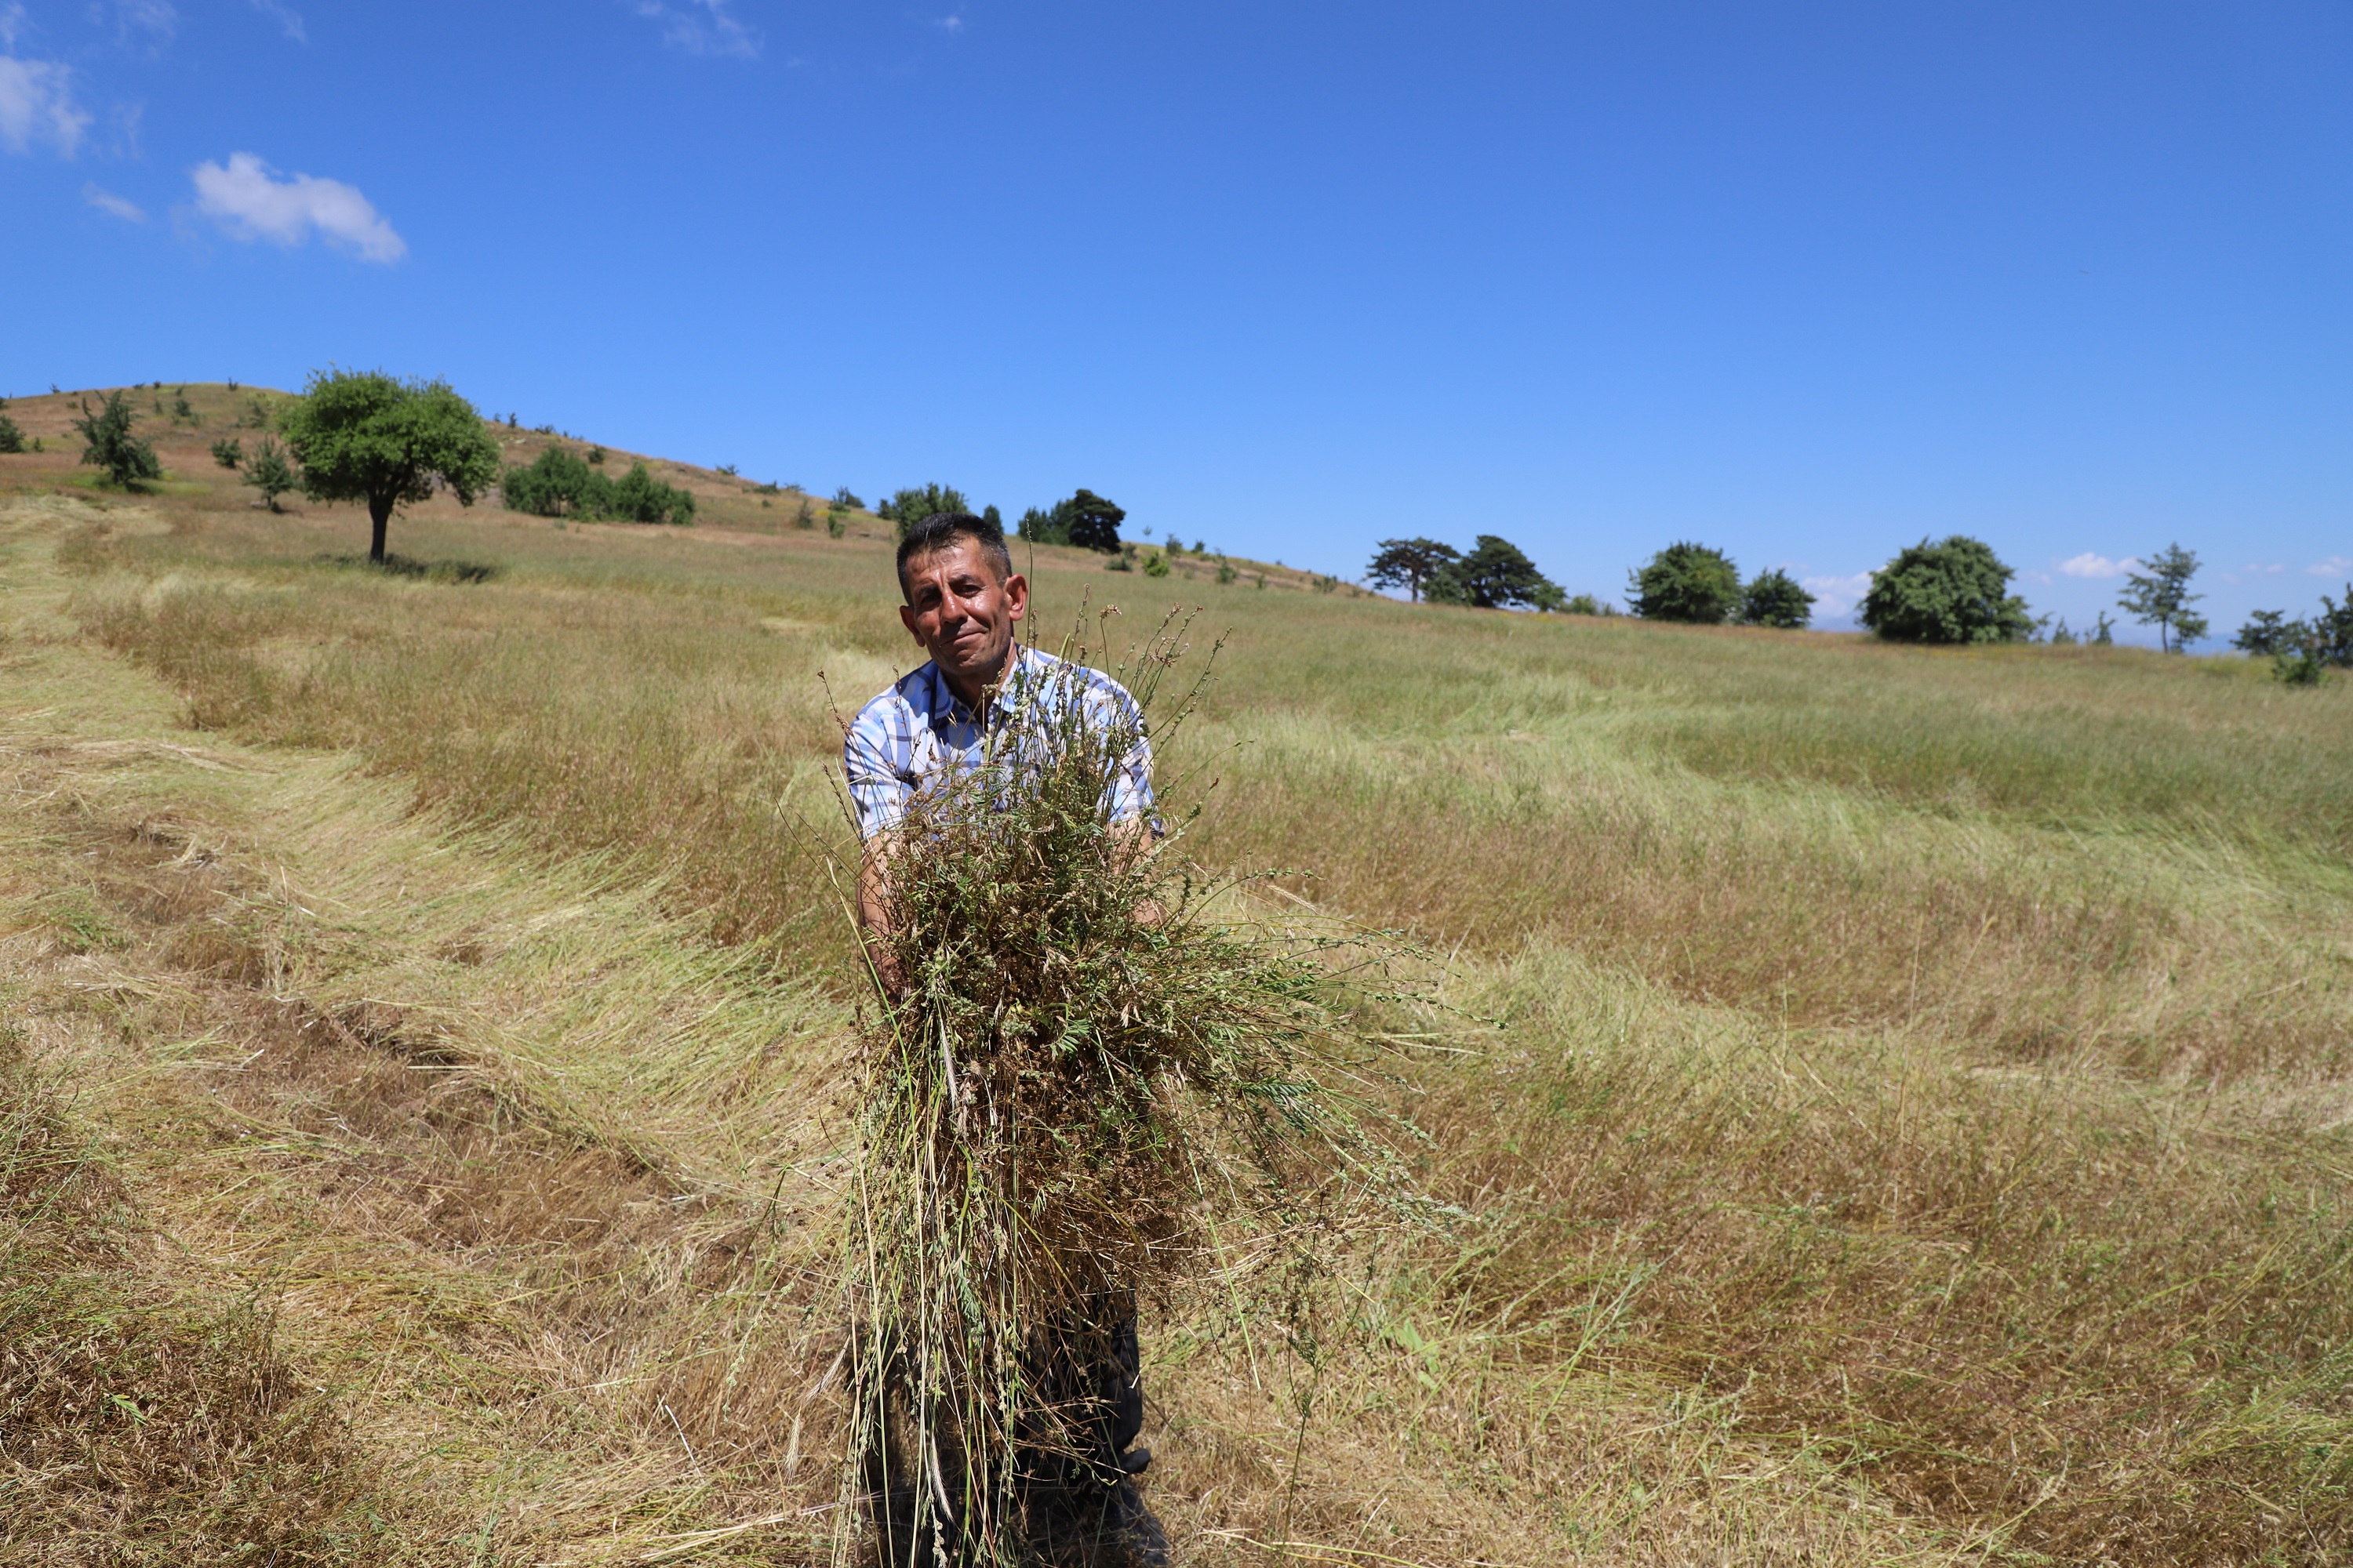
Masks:
[[[304,400],[278,416],[313,501],[365,501],[367,559],[384,562],[393,508],[447,484],[459,505],[499,482],[499,442],[447,381],[384,371],[311,371]]]

